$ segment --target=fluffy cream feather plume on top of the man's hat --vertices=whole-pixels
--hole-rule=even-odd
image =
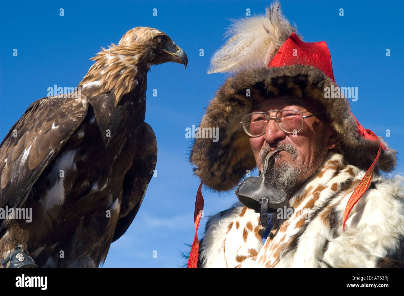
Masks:
[[[233,20],[230,37],[210,60],[208,73],[236,73],[251,67],[265,67],[297,27],[284,17],[279,2],[266,8],[266,15]]]

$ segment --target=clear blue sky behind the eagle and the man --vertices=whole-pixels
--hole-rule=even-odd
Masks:
[[[194,202],[199,181],[188,162],[204,108],[226,78],[206,74],[210,57],[224,42],[229,18],[264,13],[270,1],[19,1],[0,4],[0,138],[25,109],[57,84],[74,87],[93,64],[89,58],[133,27],[167,33],[188,55],[188,67],[166,63],[151,68],[146,122],[158,143],[157,177],[124,236],[111,245],[106,267],[179,267],[181,251],[194,237]],[[305,42],[326,41],[340,86],[358,87],[352,112],[398,153],[403,173],[402,1],[281,1]],[[59,16],[59,9],[64,16]],[[153,16],[157,8],[157,16]],[[344,16],[339,16],[339,9]],[[13,49],[18,56],[13,56]],[[200,56],[200,49],[204,56]],[[391,56],[386,56],[386,49]],[[152,96],[152,90],[158,96]],[[386,130],[390,137],[386,138]],[[0,140],[1,140],[0,139]],[[204,190],[206,217],[237,201],[232,192]],[[153,257],[157,251],[157,258]]]

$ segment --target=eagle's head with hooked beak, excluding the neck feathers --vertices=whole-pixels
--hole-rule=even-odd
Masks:
[[[174,62],[184,64],[186,68],[188,64],[187,54],[166,33],[158,29],[148,27],[130,29],[122,36],[118,46],[142,48],[143,60],[147,60],[149,66]]]

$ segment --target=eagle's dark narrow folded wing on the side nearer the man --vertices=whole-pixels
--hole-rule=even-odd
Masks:
[[[126,172],[123,183],[123,202],[120,219],[116,225],[112,242],[120,238],[135,218],[143,201],[147,185],[153,176],[157,162],[157,142],[153,129],[144,123],[138,154]]]

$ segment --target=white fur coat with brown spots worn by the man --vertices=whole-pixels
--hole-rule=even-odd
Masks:
[[[290,198],[292,213],[278,216],[265,243],[254,210],[236,204],[210,217],[198,267],[404,267],[399,177],[375,173],[342,230],[345,206],[365,173],[349,165],[341,150],[330,150]]]

